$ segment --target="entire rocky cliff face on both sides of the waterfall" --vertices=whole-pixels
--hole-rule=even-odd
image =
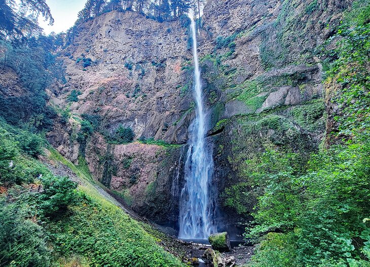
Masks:
[[[349,4],[206,4],[198,42],[220,227],[247,219],[253,207],[256,192],[244,178],[246,160],[275,148],[298,152],[304,162],[318,148],[325,106],[317,48],[331,34],[326,25],[339,21]],[[174,224],[187,149],[183,144],[194,118],[192,54],[188,29],[181,24],[186,25],[133,12],[110,12],[82,24],[63,52],[67,82],[49,91],[52,102],[71,113],[49,133],[53,146],[75,162],[85,155],[94,177],[134,211]],[[68,104],[72,90],[81,95]],[[99,130],[82,146],[76,135],[84,114],[98,118]],[[172,145],[114,144],[107,137],[120,125],[131,127],[135,139]],[[238,192],[249,192],[247,210],[234,205]]]

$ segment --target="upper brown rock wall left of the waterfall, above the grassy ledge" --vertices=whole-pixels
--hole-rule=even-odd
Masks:
[[[189,78],[181,68],[192,58],[186,31],[178,21],[159,23],[135,12],[83,23],[63,51],[67,83],[50,92],[51,100],[65,106],[77,90],[71,112],[99,115],[108,132],[124,125],[136,138],[186,142],[192,95],[179,89]]]

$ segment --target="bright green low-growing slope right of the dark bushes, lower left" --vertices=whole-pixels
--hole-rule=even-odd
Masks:
[[[50,225],[58,229],[53,242],[61,254],[69,251],[84,254],[94,266],[181,266],[138,222],[107,201],[83,170],[51,150],[54,159],[58,158],[87,182],[80,185],[79,190],[91,200],[91,203],[71,207],[71,216]]]

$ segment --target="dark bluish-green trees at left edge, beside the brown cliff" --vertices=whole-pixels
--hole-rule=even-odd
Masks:
[[[17,84],[23,87],[23,92],[0,97],[0,116],[32,132],[50,129],[57,114],[46,105],[45,88],[54,79],[65,82],[61,61],[46,48],[46,37],[19,45],[2,40],[2,34],[3,31],[0,32],[0,65],[11,75],[8,79],[20,78]]]

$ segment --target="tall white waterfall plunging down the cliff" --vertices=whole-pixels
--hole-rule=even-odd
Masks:
[[[180,195],[179,238],[206,239],[215,231],[214,205],[209,195],[213,172],[212,155],[205,142],[206,115],[197,55],[195,22],[191,23],[194,56],[196,118],[190,126],[191,140],[185,163],[185,185]]]

